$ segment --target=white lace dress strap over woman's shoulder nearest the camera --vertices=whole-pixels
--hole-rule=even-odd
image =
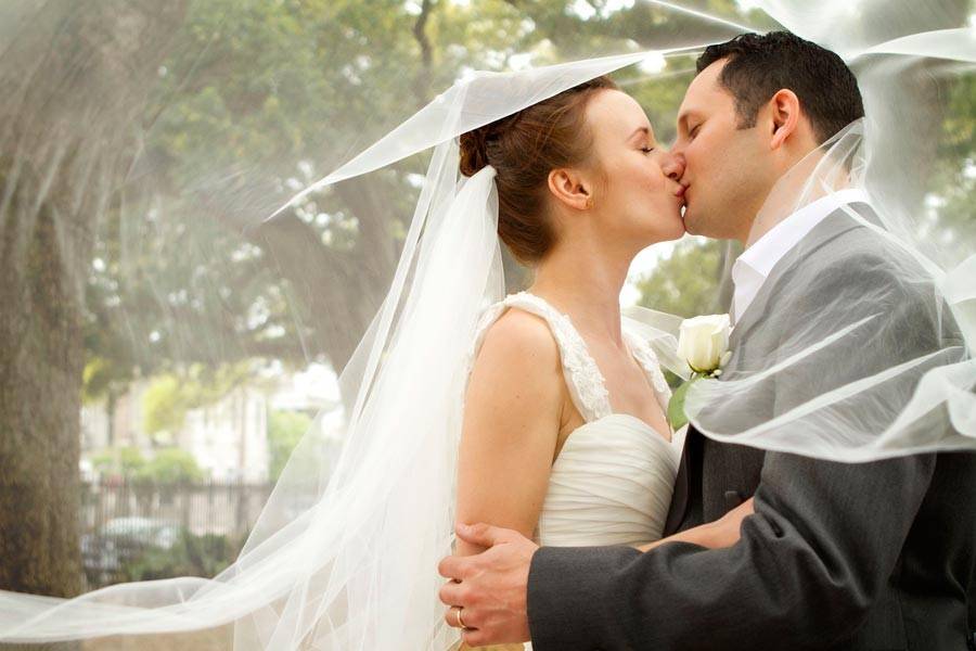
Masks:
[[[552,331],[560,349],[563,375],[569,397],[587,422],[592,422],[612,413],[606,382],[596,362],[590,356],[587,344],[577,332],[567,315],[556,310],[549,303],[528,292],[519,292],[505,297],[488,308],[481,317],[475,333],[474,356],[481,347],[485,335],[509,308],[518,308],[542,318]]]

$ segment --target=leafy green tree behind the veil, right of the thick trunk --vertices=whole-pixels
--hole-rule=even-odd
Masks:
[[[701,22],[646,3],[594,7],[587,15],[551,0],[191,4],[160,68],[166,103],[152,111],[143,171],[127,189],[127,212],[100,238],[92,350],[118,350],[123,382],[133,365],[145,375],[256,356],[342,369],[387,290],[418,194],[411,176],[424,161],[261,218],[465,68],[504,69],[525,53],[538,65],[634,50]],[[730,0],[705,9],[737,16]],[[652,85],[624,76],[667,140],[689,75]],[[151,228],[140,226],[153,209]],[[515,289],[524,271],[505,263]],[[255,311],[262,318],[245,318]]]

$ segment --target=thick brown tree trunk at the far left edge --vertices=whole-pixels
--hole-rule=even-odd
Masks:
[[[0,43],[3,589],[67,597],[81,588],[85,280],[97,220],[133,151],[132,122],[183,10],[73,0],[8,8],[22,27]]]

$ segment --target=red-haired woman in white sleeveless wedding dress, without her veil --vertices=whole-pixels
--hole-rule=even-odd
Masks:
[[[668,424],[662,368],[624,331],[618,296],[638,252],[684,233],[682,164],[637,101],[600,77],[464,133],[462,173],[489,166],[499,235],[534,280],[476,331],[458,521],[548,546],[647,548],[662,536],[683,430]],[[680,539],[732,545],[749,506]],[[481,549],[459,540],[458,551]]]

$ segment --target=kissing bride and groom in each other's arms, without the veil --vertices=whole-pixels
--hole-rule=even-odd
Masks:
[[[458,526],[439,591],[467,644],[974,648],[976,457],[802,454],[881,435],[911,393],[851,385],[961,341],[853,182],[844,140],[863,116],[839,56],[772,33],[705,50],[670,150],[606,77],[462,136],[462,171],[493,176],[499,234],[535,272],[476,334],[457,507],[476,524]],[[633,257],[685,231],[745,247],[714,383],[746,385],[860,324],[711,397],[717,432],[782,418],[767,449],[675,430],[657,356],[621,327]]]

